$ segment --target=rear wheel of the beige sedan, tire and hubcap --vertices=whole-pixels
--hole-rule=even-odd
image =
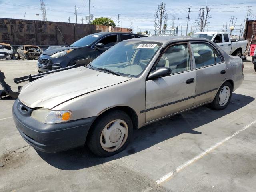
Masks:
[[[230,82],[225,82],[224,84],[222,84],[213,102],[210,104],[211,107],[215,110],[225,109],[230,102],[232,91],[232,85],[230,84]]]

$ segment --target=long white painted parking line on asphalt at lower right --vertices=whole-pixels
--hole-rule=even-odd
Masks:
[[[235,132],[234,134],[232,134],[231,136],[225,138],[224,140],[216,143],[214,146],[208,148],[206,151],[200,153],[198,156],[188,160],[187,162],[185,162],[184,164],[182,164],[181,166],[178,166],[174,171],[171,171],[169,173],[167,173],[166,175],[162,176],[160,179],[158,179],[156,181],[156,184],[161,184],[162,182],[170,179],[174,174],[176,174],[177,172],[179,172],[180,170],[184,169],[185,167],[189,166],[190,164],[192,164],[193,162],[195,162],[196,160],[200,159],[202,156],[205,156],[206,154],[208,154],[210,151],[214,150],[215,148],[217,148],[218,146],[220,146],[221,144],[223,144],[224,142],[226,142],[227,140],[230,140],[232,137],[236,136],[238,133],[246,130],[248,127],[252,126],[253,124],[256,123],[256,120],[251,122],[250,124],[244,126],[242,129],[240,129],[239,131]]]

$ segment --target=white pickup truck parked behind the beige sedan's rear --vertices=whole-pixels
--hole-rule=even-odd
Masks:
[[[227,54],[241,57],[246,52],[247,41],[231,39],[227,32],[206,31],[194,33],[191,37],[200,37],[212,40]]]

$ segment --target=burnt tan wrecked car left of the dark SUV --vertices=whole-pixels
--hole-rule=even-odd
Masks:
[[[42,52],[40,47],[34,45],[22,45],[17,49],[18,59],[25,60],[38,58]]]

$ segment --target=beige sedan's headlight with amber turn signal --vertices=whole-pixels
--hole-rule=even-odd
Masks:
[[[36,109],[31,113],[31,117],[47,124],[62,123],[69,121],[72,112],[65,111],[52,111],[48,109]]]

